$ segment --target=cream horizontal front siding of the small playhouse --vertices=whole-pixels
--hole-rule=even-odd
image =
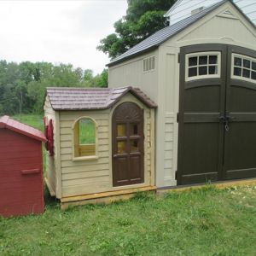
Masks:
[[[120,102],[131,101],[144,108],[145,119],[145,183],[129,188],[154,185],[154,110],[145,108],[134,96],[124,96]],[[112,182],[112,109],[60,112],[60,158],[62,198],[125,189]],[[73,159],[73,125],[81,117],[96,121],[96,156],[92,160]],[[153,121],[153,123],[152,123]]]

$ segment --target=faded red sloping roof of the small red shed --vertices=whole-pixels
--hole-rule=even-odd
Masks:
[[[15,119],[11,119],[8,115],[4,115],[0,118],[0,129],[3,128],[15,131],[27,137],[32,137],[38,141],[47,141],[42,131],[35,129],[32,126],[22,124]]]

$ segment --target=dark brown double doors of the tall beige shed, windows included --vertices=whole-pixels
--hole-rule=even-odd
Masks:
[[[177,184],[256,177],[256,52],[181,49]]]

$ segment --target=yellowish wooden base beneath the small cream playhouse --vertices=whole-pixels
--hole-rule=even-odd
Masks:
[[[113,201],[128,200],[137,192],[155,191],[155,186],[148,186],[139,189],[125,189],[118,191],[110,191],[103,193],[96,193],[90,195],[69,196],[61,198],[61,210],[68,207],[82,206],[86,204],[104,203],[109,204]]]

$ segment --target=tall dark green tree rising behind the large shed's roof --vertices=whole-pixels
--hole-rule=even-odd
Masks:
[[[97,46],[111,59],[167,26],[164,14],[176,0],[127,1],[126,15],[113,25],[115,33],[103,38]]]

